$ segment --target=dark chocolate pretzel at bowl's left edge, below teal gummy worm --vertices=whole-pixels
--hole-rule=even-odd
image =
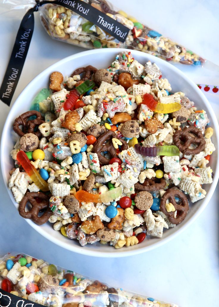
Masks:
[[[36,119],[31,119],[28,120],[29,117],[31,116],[36,116]],[[40,112],[32,110],[32,111],[27,111],[20,116],[18,116],[13,124],[13,130],[20,136],[22,137],[26,133],[33,133],[36,134],[38,138],[42,135],[39,130],[34,131],[36,126],[40,126],[43,122],[42,115]],[[19,126],[23,126],[23,131],[19,128]]]

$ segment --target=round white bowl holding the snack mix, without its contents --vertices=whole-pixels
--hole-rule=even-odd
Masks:
[[[108,67],[108,65],[111,64],[115,56],[123,50],[126,49],[95,49],[92,51],[84,51],[73,56],[66,57],[65,59],[60,60],[59,62],[46,68],[43,72],[36,76],[21,92],[6,119],[6,123],[2,132],[0,155],[2,174],[4,177],[6,189],[9,192],[10,198],[16,208],[18,208],[18,204],[15,202],[13,194],[11,191],[9,191],[7,184],[9,179],[9,171],[12,169],[12,167],[14,167],[13,159],[10,157],[9,153],[13,149],[13,146],[17,140],[17,134],[15,134],[12,129],[14,119],[29,110],[32,99],[42,88],[47,87],[51,72],[59,71],[63,74],[63,76],[69,76],[74,71],[74,69],[86,65],[93,65],[97,68],[106,68]],[[186,227],[191,225],[191,223],[194,222],[194,220],[207,206],[216,188],[219,177],[219,134],[216,133],[216,131],[219,131],[219,126],[213,109],[204,94],[199,90],[197,85],[195,85],[191,80],[187,78],[187,76],[185,76],[179,69],[177,69],[173,65],[155,56],[151,56],[143,52],[131,51],[131,53],[134,58],[142,64],[145,64],[148,60],[150,60],[152,63],[155,62],[160,67],[163,78],[167,78],[169,80],[172,87],[172,92],[184,92],[190,100],[195,102],[195,106],[198,107],[198,109],[204,109],[207,111],[207,115],[210,119],[210,126],[215,132],[212,137],[212,140],[215,145],[216,151],[212,154],[212,157],[210,159],[210,166],[213,169],[214,173],[213,183],[211,185],[204,186],[207,192],[206,197],[190,206],[190,210],[182,223],[180,223],[175,228],[170,228],[167,231],[164,231],[163,237],[160,239],[155,237],[152,237],[151,239],[145,239],[141,244],[129,248],[124,247],[122,249],[115,249],[108,245],[101,245],[100,243],[96,243],[95,245],[87,244],[85,245],[85,247],[81,247],[77,240],[70,240],[61,235],[59,231],[55,231],[52,227],[53,224],[46,223],[42,226],[38,226],[31,220],[26,219],[26,221],[36,231],[38,231],[48,240],[70,251],[74,251],[84,255],[96,257],[130,256],[149,251],[175,238],[176,235],[178,235]],[[8,156],[5,155],[6,152],[8,153]],[[17,214],[19,213],[17,212]]]

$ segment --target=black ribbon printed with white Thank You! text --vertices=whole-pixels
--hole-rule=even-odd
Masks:
[[[36,5],[28,10],[21,21],[9,64],[0,88],[0,99],[8,106],[11,103],[11,99],[21,76],[31,42],[34,29],[33,13],[38,11],[39,7],[46,3],[65,6],[91,21],[93,24],[98,25],[98,27],[111,34],[111,36],[115,37],[118,41],[124,42],[129,33],[129,29],[126,26],[81,0],[36,0]]]

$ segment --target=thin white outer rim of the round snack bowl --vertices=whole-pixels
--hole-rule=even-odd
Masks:
[[[8,129],[10,129],[9,126],[11,126],[11,121],[9,120],[9,118],[10,118],[10,115],[13,113],[13,110],[17,108],[17,101],[18,101],[19,97],[22,96],[25,93],[25,91],[28,91],[28,88],[31,87],[32,84],[37,84],[37,80],[39,80],[41,78],[41,76],[44,76],[45,74],[49,73],[52,69],[55,69],[57,64],[61,65],[61,64],[64,64],[64,63],[66,63],[70,60],[76,60],[77,58],[89,56],[91,54],[92,55],[93,54],[99,54],[99,53],[106,53],[107,54],[109,51],[110,51],[110,53],[115,52],[115,54],[118,54],[122,51],[130,51],[130,52],[136,54],[135,56],[138,56],[138,54],[139,54],[139,56],[145,55],[145,57],[147,57],[148,60],[155,62],[158,66],[159,66],[159,63],[164,64],[164,66],[169,65],[169,68],[171,67],[171,70],[172,70],[173,73],[176,72],[177,74],[180,75],[180,77],[187,80],[187,82],[189,82],[192,85],[193,90],[195,92],[197,92],[197,94],[199,96],[201,96],[202,100],[204,100],[204,102],[206,104],[206,107],[208,107],[208,113],[211,114],[213,126],[214,126],[215,130],[219,131],[219,125],[218,125],[218,122],[217,122],[216,115],[213,111],[213,108],[211,107],[211,105],[210,105],[208,99],[206,98],[206,96],[197,87],[197,85],[192,80],[190,80],[190,78],[188,78],[181,70],[176,68],[174,65],[172,65],[168,62],[165,62],[164,60],[162,60],[162,59],[160,59],[156,56],[153,56],[153,55],[150,55],[150,54],[147,54],[147,53],[143,53],[143,52],[140,52],[140,51],[137,51],[137,50],[130,50],[130,49],[125,49],[125,48],[110,48],[110,49],[86,50],[86,51],[79,52],[79,53],[73,54],[71,56],[65,57],[62,60],[59,60],[59,61],[55,62],[54,64],[45,68],[42,72],[40,72],[35,78],[33,78],[26,85],[26,87],[18,95],[17,99],[13,103],[13,106],[9,110],[9,113],[7,115],[3,130],[2,130],[1,145],[0,145],[1,146],[1,148],[0,148],[0,160],[1,160],[2,177],[3,177],[3,180],[4,180],[4,184],[6,186],[7,192],[9,193],[10,199],[12,200],[12,202],[13,202],[13,204],[16,208],[18,208],[18,204],[15,202],[15,199],[14,199],[11,191],[9,191],[7,178],[3,174],[4,165],[5,165],[3,157],[5,155],[4,154],[4,143],[5,143],[6,131]],[[216,134],[216,139],[217,139],[217,145],[219,145],[219,134]],[[63,247],[65,249],[69,250],[69,251],[73,251],[73,252],[76,252],[76,253],[79,253],[79,254],[82,254],[82,255],[88,255],[88,256],[93,256],[93,257],[103,257],[103,258],[105,258],[105,257],[117,258],[117,257],[126,257],[126,256],[138,255],[138,254],[144,253],[146,251],[151,251],[151,250],[153,250],[157,247],[160,247],[163,244],[169,242],[170,240],[176,238],[176,236],[179,235],[180,233],[182,233],[187,227],[189,227],[198,218],[198,216],[200,216],[200,214],[203,212],[203,210],[206,208],[206,206],[209,203],[209,201],[210,201],[210,199],[213,195],[213,192],[214,192],[214,190],[217,186],[217,181],[218,181],[218,178],[219,178],[219,150],[216,150],[214,154],[217,154],[217,157],[216,157],[217,158],[217,165],[216,165],[216,170],[215,170],[215,173],[214,173],[214,179],[213,179],[212,184],[210,185],[210,190],[207,193],[207,196],[205,197],[203,203],[201,205],[199,205],[197,211],[194,212],[194,214],[179,229],[177,229],[177,227],[175,228],[176,230],[174,231],[174,233],[168,235],[166,238],[157,239],[157,242],[154,242],[153,244],[151,244],[149,246],[141,247],[141,245],[140,246],[138,245],[138,247],[134,250],[125,250],[125,251],[124,251],[124,249],[113,249],[113,250],[109,249],[109,251],[106,252],[106,251],[101,251],[101,248],[100,249],[98,248],[97,251],[93,251],[93,250],[87,249],[86,246],[81,247],[81,246],[77,246],[77,245],[73,245],[73,244],[71,245],[70,244],[71,241],[69,241],[69,243],[67,243],[67,242],[62,242],[60,239],[58,239],[56,242],[54,242],[54,235],[48,234],[45,230],[43,230],[43,228],[41,228],[40,226],[33,223],[32,220],[28,220],[28,219],[25,219],[25,220],[32,228],[34,228],[44,238],[50,240],[51,242],[53,242],[54,244],[56,244],[60,247]]]

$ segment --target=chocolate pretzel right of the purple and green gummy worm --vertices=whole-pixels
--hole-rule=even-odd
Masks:
[[[173,142],[183,154],[197,154],[204,148],[206,141],[202,135],[202,131],[194,126],[185,127],[183,130],[177,130],[173,134]],[[182,142],[184,142],[182,144]],[[189,148],[192,144],[196,144],[194,149]]]

